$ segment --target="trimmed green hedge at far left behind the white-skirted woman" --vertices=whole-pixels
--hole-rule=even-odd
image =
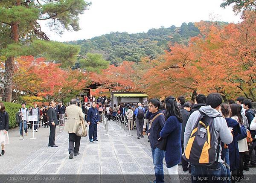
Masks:
[[[15,115],[21,108],[21,105],[10,102],[3,102],[3,104],[6,107],[7,113],[9,114],[9,128],[14,128],[17,126],[15,123]]]

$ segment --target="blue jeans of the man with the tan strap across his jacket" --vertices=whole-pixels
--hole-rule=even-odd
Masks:
[[[154,183],[164,183],[163,176],[163,158],[165,151],[159,148],[151,148],[153,163],[154,163],[154,171],[156,180]]]

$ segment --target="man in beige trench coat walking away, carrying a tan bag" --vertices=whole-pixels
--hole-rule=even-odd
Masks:
[[[64,131],[69,134],[68,142],[68,152],[70,154],[69,158],[72,159],[73,156],[79,155],[79,147],[81,137],[77,136],[77,128],[81,120],[83,120],[84,115],[81,107],[76,105],[76,99],[71,99],[70,106],[66,108],[67,122]],[[74,148],[75,144],[75,148]]]

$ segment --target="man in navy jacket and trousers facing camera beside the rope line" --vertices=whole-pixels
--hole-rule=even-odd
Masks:
[[[87,122],[89,125],[89,140],[95,142],[97,140],[97,124],[99,124],[99,112],[96,108],[96,102],[92,102],[93,107],[90,107],[87,113]]]

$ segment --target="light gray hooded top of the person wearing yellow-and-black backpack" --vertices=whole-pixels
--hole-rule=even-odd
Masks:
[[[218,112],[218,110],[213,109],[209,105],[208,106],[202,106],[199,110],[201,112],[205,113],[209,117],[216,117],[220,114]],[[185,127],[185,133],[184,133],[184,151],[186,149],[186,145],[188,143],[188,140],[191,136],[192,129],[195,126],[196,122],[198,122],[199,117],[200,117],[200,112],[199,111],[195,111],[189,117],[189,120],[188,120],[188,122],[186,124],[186,127]],[[214,130],[215,137],[217,137],[217,139],[220,137],[221,142],[223,142],[224,144],[230,144],[233,141],[233,135],[231,134],[230,129],[227,127],[227,122],[223,117],[214,118],[214,128],[215,128],[215,130]],[[214,146],[215,146],[215,149],[217,149],[218,140],[215,140],[215,145]],[[219,154],[219,157],[218,157],[218,162],[224,162],[223,160],[221,160],[221,150],[222,150],[222,148],[221,148],[221,145],[220,145],[220,154]],[[217,154],[216,154],[216,156],[217,156]]]

